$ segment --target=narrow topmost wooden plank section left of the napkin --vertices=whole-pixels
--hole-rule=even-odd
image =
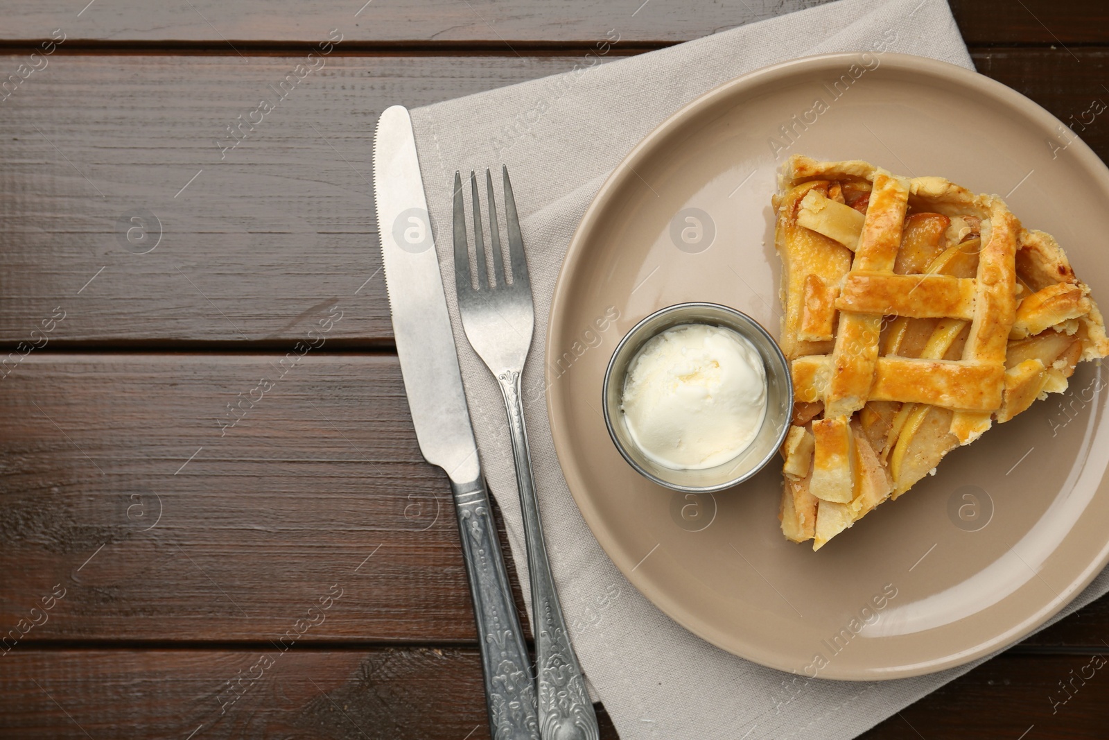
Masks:
[[[0,39],[31,40],[63,28],[74,40],[214,42],[230,49],[236,42],[316,42],[332,28],[344,40],[359,42],[511,43],[596,41],[609,29],[630,41],[678,42],[695,39],[752,20],[828,0],[745,0],[740,4],[673,2],[607,2],[571,0],[558,4],[537,0],[511,2],[405,3],[346,2],[267,3],[265,9],[217,0],[151,6],[138,0],[100,0],[78,16],[80,7],[63,0],[13,0],[6,7]],[[81,6],[83,3],[77,3]]]

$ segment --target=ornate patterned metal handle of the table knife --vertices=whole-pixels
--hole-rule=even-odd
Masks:
[[[451,481],[450,488],[478,627],[489,734],[495,740],[539,740],[535,677],[500,554],[489,494],[481,478],[468,484]]]

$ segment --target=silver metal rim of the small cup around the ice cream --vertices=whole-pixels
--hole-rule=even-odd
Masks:
[[[735,486],[739,486],[742,483],[745,483],[746,480],[749,480],[752,477],[754,477],[755,475],[757,475],[759,472],[762,470],[764,467],[766,467],[770,464],[770,462],[772,459],[774,459],[774,456],[777,454],[779,449],[781,449],[781,447],[782,447],[782,444],[785,442],[785,437],[790,433],[790,424],[788,423],[782,424],[782,428],[779,429],[773,446],[771,446],[771,448],[766,452],[766,454],[762,457],[762,459],[760,459],[753,467],[751,467],[746,472],[742,473],[741,475],[735,476],[734,478],[730,478],[730,479],[728,479],[728,480],[725,480],[723,483],[719,483],[719,484],[711,485],[711,486],[685,486],[685,485],[682,485],[682,484],[676,484],[676,483],[672,483],[672,481],[669,481],[669,480],[663,480],[659,476],[657,476],[653,473],[650,473],[649,470],[647,470],[645,468],[643,468],[638,462],[635,462],[632,458],[631,454],[627,450],[627,448],[624,447],[623,443],[620,440],[619,435],[615,432],[615,423],[612,419],[612,414],[611,414],[611,410],[609,408],[609,387],[611,385],[611,382],[614,379],[612,377],[612,374],[613,374],[613,371],[615,368],[617,358],[621,356],[621,353],[623,352],[624,347],[629,346],[630,339],[632,339],[633,337],[635,337],[635,335],[644,326],[647,326],[649,323],[658,320],[660,316],[664,316],[664,315],[670,314],[670,313],[676,313],[679,311],[689,310],[689,308],[709,310],[709,311],[715,311],[715,312],[721,312],[723,314],[726,314],[731,318],[736,320],[736,323],[745,324],[745,325],[752,327],[757,334],[761,334],[763,336],[763,338],[765,338],[769,342],[770,346],[773,347],[773,357],[766,357],[760,351],[759,347],[755,347],[755,352],[759,352],[759,356],[762,357],[762,359],[763,359],[763,367],[765,368],[767,375],[770,375],[773,372],[776,377],[780,376],[780,377],[783,377],[785,379],[785,389],[786,389],[786,394],[785,394],[786,403],[785,403],[785,405],[787,407],[786,408],[786,414],[787,415],[790,414],[790,409],[792,409],[792,407],[793,407],[793,377],[792,377],[792,373],[791,373],[791,368],[790,368],[790,362],[785,358],[785,354],[782,352],[782,347],[779,346],[777,342],[774,339],[774,337],[771,335],[771,333],[767,332],[766,328],[762,324],[760,324],[757,321],[755,321],[754,318],[752,318],[747,314],[743,313],[739,308],[733,308],[731,306],[725,306],[724,304],[721,304],[721,303],[711,303],[711,302],[708,302],[708,301],[686,301],[686,302],[683,302],[683,303],[675,303],[673,305],[665,306],[663,308],[659,308],[658,311],[654,311],[654,312],[648,314],[647,316],[644,316],[643,318],[641,318],[640,321],[635,322],[635,325],[632,326],[630,330],[628,330],[628,332],[623,335],[623,337],[621,337],[620,342],[617,344],[615,349],[612,351],[612,356],[609,357],[609,364],[608,364],[608,366],[604,369],[604,381],[601,383],[601,410],[602,410],[602,414],[604,416],[604,426],[606,426],[606,428],[609,432],[609,437],[612,439],[612,444],[615,445],[617,452],[620,453],[620,456],[623,457],[624,460],[627,460],[627,463],[637,473],[639,473],[640,475],[642,475],[648,480],[650,480],[650,481],[652,481],[654,484],[658,484],[658,485],[660,485],[660,486],[662,486],[664,488],[669,488],[670,490],[676,490],[676,491],[681,491],[681,493],[685,493],[685,494],[714,494],[714,493],[718,493],[718,491],[721,491],[721,490],[725,490],[728,488],[733,488]],[[689,322],[689,323],[693,324],[695,322]],[[681,325],[682,324],[674,324],[673,326],[667,326],[665,328],[660,330],[655,334],[652,334],[650,337],[643,339],[643,342],[640,343],[639,347],[637,347],[637,352],[639,351],[640,347],[642,347],[643,344],[645,344],[647,342],[649,342],[651,338],[658,336],[662,332],[670,331],[674,326],[681,326]],[[725,327],[725,328],[730,328],[730,327]],[[732,330],[732,331],[734,331],[734,330]],[[746,338],[746,337],[744,337],[744,338]],[[773,371],[770,367],[770,365],[772,364],[771,361],[776,366]],[[767,381],[767,385],[769,385],[769,381]],[[765,417],[764,417],[764,420],[765,420]],[[754,438],[752,438],[751,444],[754,444]],[[750,444],[749,444],[749,447],[750,447]],[[744,447],[743,449],[745,450],[746,447]],[[739,454],[742,454],[742,452],[743,450],[740,450]],[[739,456],[739,454],[736,456]]]

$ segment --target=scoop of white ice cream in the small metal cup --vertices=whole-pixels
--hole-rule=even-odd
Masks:
[[[655,463],[714,467],[743,452],[762,426],[766,368],[732,330],[674,326],[632,358],[621,409],[635,444]]]

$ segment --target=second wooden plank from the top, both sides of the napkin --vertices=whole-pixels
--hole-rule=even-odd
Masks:
[[[1109,100],[1109,50],[1080,53],[1076,63],[1062,49],[991,49],[975,61],[1069,119]],[[369,196],[377,113],[574,58],[334,57],[222,153],[225,126],[299,61],[57,57],[0,104],[0,343],[28,341],[60,307],[53,346],[287,347],[340,303],[349,320],[333,347],[388,346]],[[1105,116],[1081,135],[1109,156]],[[135,254],[124,235],[144,211],[162,239]]]

